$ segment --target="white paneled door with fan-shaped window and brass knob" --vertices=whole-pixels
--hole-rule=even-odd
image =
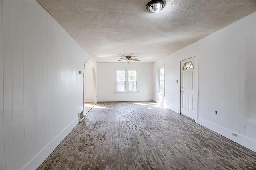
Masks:
[[[180,113],[196,120],[197,90],[195,57],[180,61]]]

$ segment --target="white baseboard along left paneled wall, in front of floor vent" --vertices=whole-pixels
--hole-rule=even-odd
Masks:
[[[48,143],[34,158],[32,158],[21,169],[32,170],[37,169],[46,158],[54,151],[54,149],[62,142],[62,140],[71,132],[71,130],[78,124],[78,117],[72,121],[60,134],[58,134],[50,143]]]

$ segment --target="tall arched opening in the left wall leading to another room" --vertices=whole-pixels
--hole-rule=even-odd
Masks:
[[[86,61],[84,64],[83,91],[84,114],[86,114],[97,103],[96,75],[92,61]]]

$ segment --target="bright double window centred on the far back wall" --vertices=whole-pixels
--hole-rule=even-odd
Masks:
[[[136,92],[137,69],[115,69],[115,92]]]

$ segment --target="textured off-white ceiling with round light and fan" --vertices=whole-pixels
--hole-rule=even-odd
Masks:
[[[256,11],[254,0],[171,0],[159,13],[149,0],[38,2],[98,62],[151,63]]]

